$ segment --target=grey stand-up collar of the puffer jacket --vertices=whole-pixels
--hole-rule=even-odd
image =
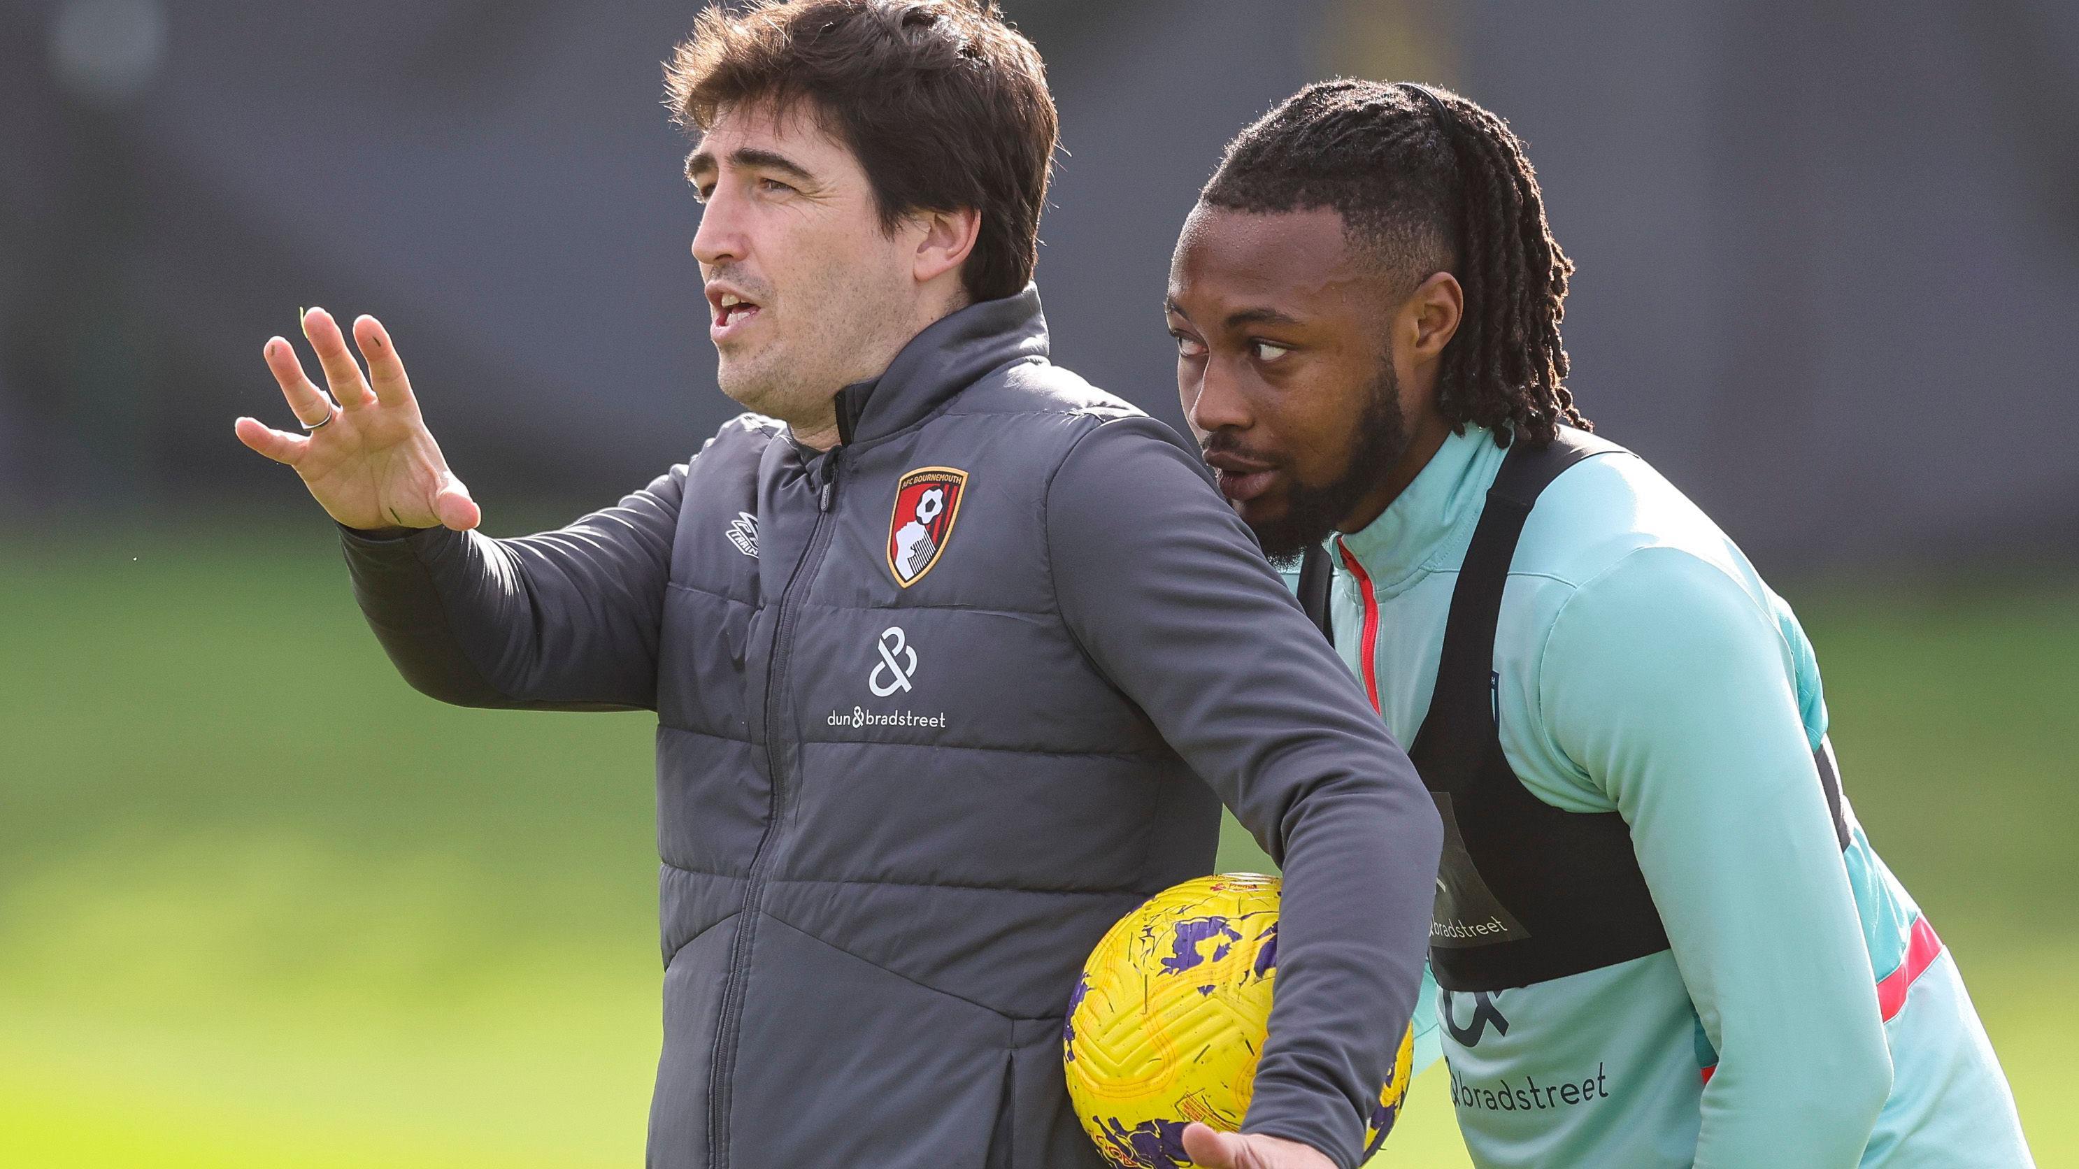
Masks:
[[[971,304],[911,337],[879,376],[838,391],[838,441],[886,439],[923,422],[990,370],[1046,356],[1046,316],[1035,285]]]

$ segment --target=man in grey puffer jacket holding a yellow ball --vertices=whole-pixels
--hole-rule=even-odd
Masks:
[[[981,4],[767,0],[703,12],[669,92],[721,389],[757,414],[503,541],[368,316],[366,381],[304,318],[337,406],[268,341],[304,435],[237,422],[345,528],[412,684],[657,711],[651,1165],[1100,1165],[1060,1067],[1075,976],[1210,872],[1225,801],[1285,865],[1247,1136],[1131,1142],[1349,1169],[1437,813],[1195,451],[1048,362],[1037,54]]]

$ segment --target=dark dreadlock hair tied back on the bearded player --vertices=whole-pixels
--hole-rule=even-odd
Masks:
[[[1443,89],[1318,81],[1227,144],[1200,202],[1241,212],[1335,208],[1405,291],[1449,270],[1466,314],[1445,345],[1437,408],[1495,443],[1590,428],[1565,389],[1565,285],[1574,262],[1545,223],[1524,144]]]

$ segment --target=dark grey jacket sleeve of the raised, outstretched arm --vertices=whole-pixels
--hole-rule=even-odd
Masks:
[[[343,530],[353,597],[412,686],[447,703],[653,709],[686,466],[524,539]]]

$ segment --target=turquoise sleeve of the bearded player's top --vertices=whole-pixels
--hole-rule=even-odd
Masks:
[[[1775,1167],[1794,1148],[1846,1169],[1892,1063],[1794,649],[1765,597],[1692,553],[1632,551],[1561,605],[1536,701],[1630,824],[1717,1050],[1696,1167]]]

